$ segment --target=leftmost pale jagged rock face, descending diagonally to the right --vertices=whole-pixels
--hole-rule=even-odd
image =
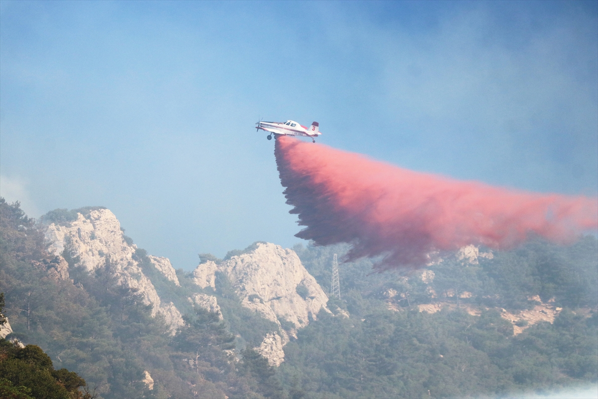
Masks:
[[[97,209],[87,215],[79,213],[77,220],[66,226],[50,224],[45,232],[45,241],[48,251],[59,256],[66,249],[69,256],[89,272],[100,267],[108,268],[117,285],[136,290],[141,294],[144,304],[152,305],[152,316],[157,312],[162,313],[173,333],[182,325],[181,313],[176,307],[172,303],[161,303],[154,285],[133,258],[136,245],[127,243],[120,223],[108,209]],[[165,261],[160,260],[159,263],[167,270]],[[167,264],[170,265],[170,261]],[[176,274],[174,276],[176,278]]]

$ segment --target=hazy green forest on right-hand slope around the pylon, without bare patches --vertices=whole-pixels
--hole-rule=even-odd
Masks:
[[[596,383],[597,248],[596,238],[587,236],[568,247],[531,240],[479,264],[447,254],[429,268],[435,275],[429,284],[417,271],[405,272],[408,278],[398,272],[368,275],[369,260],[341,264],[343,300],[331,299],[328,307],[347,310],[350,317],[322,311],[317,322],[298,331],[278,370],[283,386],[289,392],[300,386],[295,397],[449,398]],[[328,288],[332,253],[347,248],[294,249]],[[387,309],[389,290],[396,291],[398,312]],[[538,302],[528,298],[536,295],[563,310],[553,324],[539,322],[514,336],[496,308],[530,309]],[[428,314],[417,308],[439,300],[454,310]],[[468,314],[472,307],[481,315]]]

